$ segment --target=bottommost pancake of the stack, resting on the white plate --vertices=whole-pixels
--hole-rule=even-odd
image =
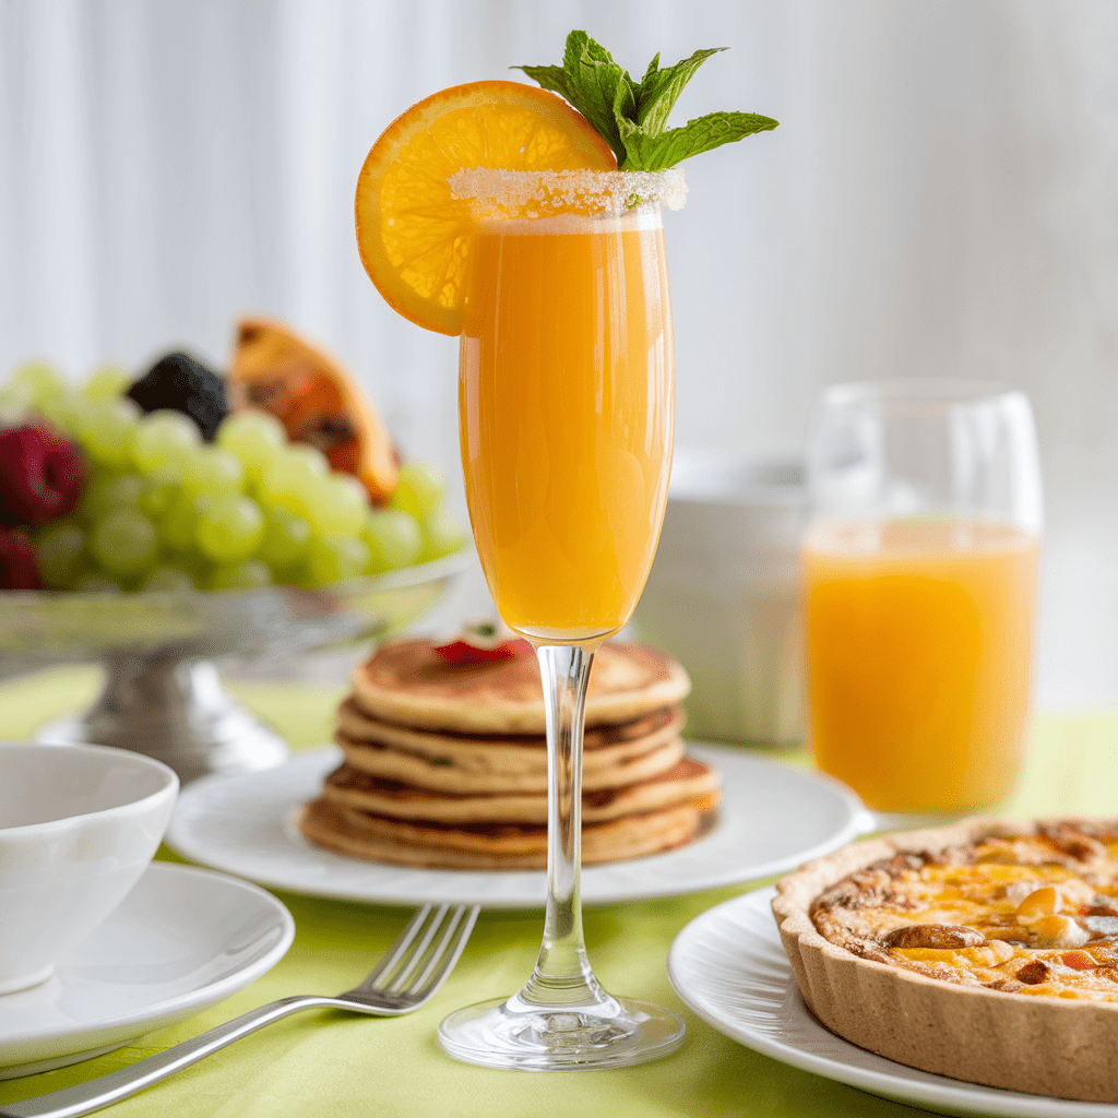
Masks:
[[[710,814],[684,804],[582,827],[582,863],[620,862],[682,846],[704,831]],[[307,804],[299,830],[315,845],[349,858],[439,870],[542,870],[546,826],[438,826],[406,823],[341,807]]]

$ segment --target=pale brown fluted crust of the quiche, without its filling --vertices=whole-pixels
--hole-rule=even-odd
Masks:
[[[1112,821],[1080,825],[1118,835]],[[1069,824],[974,819],[889,835],[853,843],[778,881],[773,911],[811,1012],[860,1048],[923,1071],[1032,1095],[1118,1101],[1118,1001],[1063,991],[1035,996],[1038,991],[1020,992],[1024,982],[991,988],[980,980],[988,978],[980,968],[973,980],[945,980],[934,977],[935,966],[912,969],[897,958],[882,961],[893,953],[878,953],[856,935],[847,946],[832,942],[813,919],[828,890],[879,863],[898,864],[898,855],[913,865],[923,855],[942,864],[956,849],[991,839],[1035,837],[1046,826]],[[1118,874],[1114,850],[1110,845],[1107,864]],[[1097,859],[1098,851],[1091,856]]]

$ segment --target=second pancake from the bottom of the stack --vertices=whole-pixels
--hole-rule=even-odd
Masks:
[[[681,749],[682,752],[682,742]],[[622,788],[582,795],[582,822],[606,823],[684,803],[717,804],[718,775],[693,757]],[[326,777],[323,798],[341,807],[397,819],[438,824],[530,823],[547,825],[548,797],[540,794],[449,795],[381,780],[343,764]]]

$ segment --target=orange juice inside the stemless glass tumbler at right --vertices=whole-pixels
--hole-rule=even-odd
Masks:
[[[968,521],[824,522],[804,574],[819,768],[882,811],[1002,800],[1023,759],[1035,538]]]

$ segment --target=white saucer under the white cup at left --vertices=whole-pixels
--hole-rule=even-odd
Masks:
[[[271,893],[153,862],[40,986],[0,997],[0,1079],[63,1068],[189,1017],[272,969],[295,922]]]

